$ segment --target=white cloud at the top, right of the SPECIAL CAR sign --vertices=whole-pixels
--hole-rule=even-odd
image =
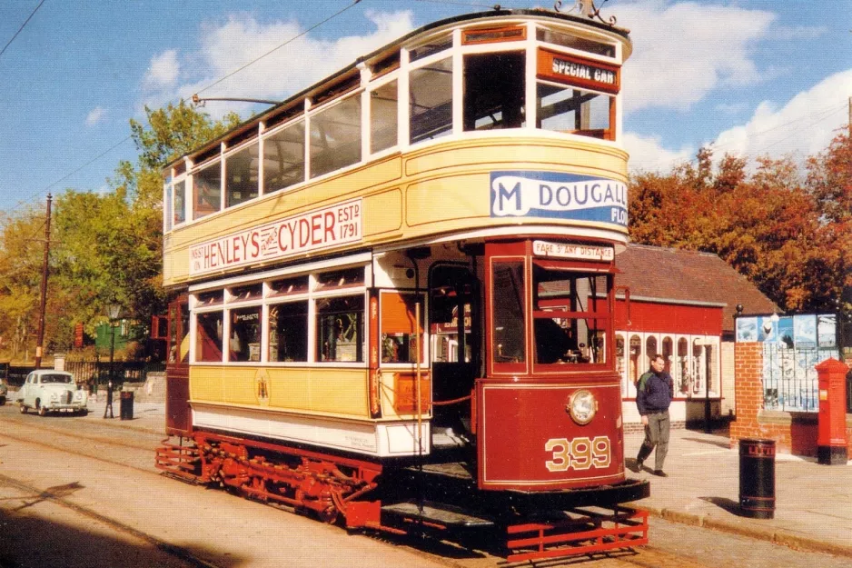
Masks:
[[[750,50],[768,37],[774,14],[642,0],[620,6],[618,16],[635,46],[622,80],[628,113],[655,106],[689,110],[714,89],[767,78],[758,72]]]

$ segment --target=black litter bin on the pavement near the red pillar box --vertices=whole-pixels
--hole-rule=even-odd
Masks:
[[[753,519],[775,516],[775,441],[739,441],[739,508]]]

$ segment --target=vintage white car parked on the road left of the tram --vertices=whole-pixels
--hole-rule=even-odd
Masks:
[[[52,412],[87,412],[85,390],[78,389],[74,375],[64,371],[38,369],[26,375],[15,400],[21,405],[22,414],[30,408],[40,416]]]

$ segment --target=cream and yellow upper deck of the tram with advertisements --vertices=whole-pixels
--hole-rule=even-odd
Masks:
[[[517,234],[627,241],[625,30],[550,11],[443,20],[163,172],[163,280]]]

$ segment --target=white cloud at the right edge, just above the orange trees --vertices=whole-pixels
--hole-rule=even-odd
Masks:
[[[713,143],[718,156],[791,155],[799,160],[824,150],[847,124],[852,69],[830,75],[786,105],[764,101],[745,125],[729,128]]]

